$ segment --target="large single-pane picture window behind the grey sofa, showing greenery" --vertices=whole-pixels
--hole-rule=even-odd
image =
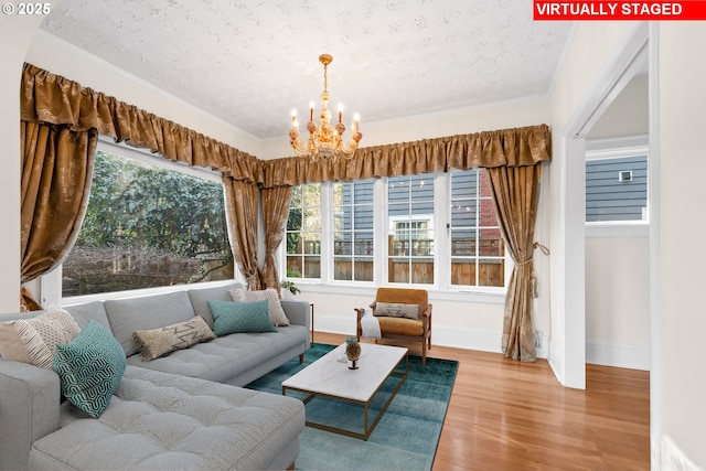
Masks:
[[[233,279],[223,185],[192,174],[98,151],[63,296]]]

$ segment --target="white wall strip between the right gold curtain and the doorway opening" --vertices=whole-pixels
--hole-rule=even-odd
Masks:
[[[550,325],[549,363],[559,382],[584,388],[586,374],[585,136],[616,62],[639,23],[576,23],[550,93]],[[589,127],[590,129],[590,127]],[[581,131],[581,132],[579,132]]]

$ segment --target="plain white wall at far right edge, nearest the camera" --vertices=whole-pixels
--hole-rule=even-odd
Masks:
[[[671,437],[703,469],[706,253],[689,236],[706,232],[702,216],[706,201],[706,57],[693,53],[696,44],[705,42],[706,23],[659,25],[660,394],[652,398],[657,402],[663,436]]]

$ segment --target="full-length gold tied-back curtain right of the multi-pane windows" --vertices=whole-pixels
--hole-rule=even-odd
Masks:
[[[507,357],[534,362],[532,260],[542,164],[486,171],[503,239],[515,263],[505,297],[502,351]]]

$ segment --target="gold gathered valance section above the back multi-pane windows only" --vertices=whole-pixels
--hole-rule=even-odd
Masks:
[[[351,159],[261,161],[263,186],[351,181],[473,168],[527,167],[550,159],[546,125],[361,148]]]

